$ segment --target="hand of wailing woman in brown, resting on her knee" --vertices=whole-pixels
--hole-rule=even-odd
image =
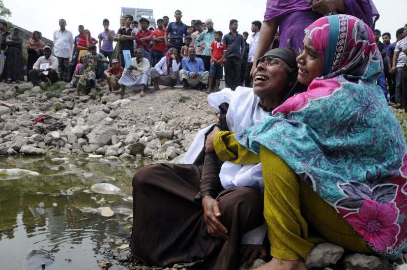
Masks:
[[[218,220],[222,215],[219,210],[218,201],[210,196],[203,197],[202,208],[208,233],[216,238],[226,239],[227,229]]]

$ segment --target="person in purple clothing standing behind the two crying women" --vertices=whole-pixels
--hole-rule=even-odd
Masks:
[[[280,48],[304,49],[304,29],[326,14],[345,13],[361,19],[372,30],[379,18],[371,0],[267,0],[263,25],[261,25],[258,47],[250,74],[256,68],[259,57],[273,44],[277,29],[280,29]]]

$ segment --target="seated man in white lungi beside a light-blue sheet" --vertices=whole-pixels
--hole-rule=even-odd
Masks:
[[[136,50],[136,57],[131,58],[133,65],[126,68],[119,80],[122,89],[115,93],[124,95],[125,88],[131,90],[140,90],[140,97],[146,96],[145,90],[150,85],[150,61],[144,57],[142,49]]]

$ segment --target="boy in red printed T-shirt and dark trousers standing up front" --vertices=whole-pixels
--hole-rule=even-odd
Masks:
[[[223,77],[223,61],[226,58],[226,44],[222,43],[223,33],[216,31],[215,42],[211,43],[209,54],[211,56],[211,69],[209,70],[208,92],[212,92],[212,80],[215,77],[215,91],[219,91],[219,82]]]

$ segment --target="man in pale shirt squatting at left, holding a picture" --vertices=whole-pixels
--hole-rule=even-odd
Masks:
[[[49,80],[51,83],[58,80],[58,59],[51,53],[51,47],[45,46],[44,55],[37,59],[33,69],[28,73],[28,78],[35,86],[40,80]],[[44,68],[46,66],[47,68]]]

